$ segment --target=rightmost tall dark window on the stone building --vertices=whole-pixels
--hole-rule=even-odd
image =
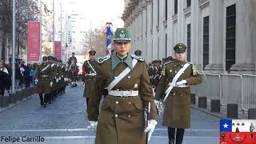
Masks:
[[[235,5],[226,7],[226,70],[235,63]]]

